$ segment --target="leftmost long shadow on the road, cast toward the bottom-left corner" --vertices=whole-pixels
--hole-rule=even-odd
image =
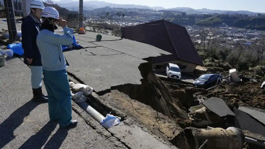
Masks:
[[[28,101],[0,124],[0,148],[3,148],[15,138],[14,130],[23,123],[24,118],[38,105],[39,103]]]

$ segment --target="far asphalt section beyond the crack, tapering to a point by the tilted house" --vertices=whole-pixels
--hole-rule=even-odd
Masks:
[[[80,39],[80,37],[77,37]],[[157,47],[151,46],[149,44],[136,42],[133,40],[122,39],[117,41],[101,41],[93,42],[96,45],[104,46],[117,50],[119,52],[126,53],[128,55],[138,57],[138,58],[147,58],[151,56],[161,56],[161,54],[169,55],[171,53],[161,50]]]

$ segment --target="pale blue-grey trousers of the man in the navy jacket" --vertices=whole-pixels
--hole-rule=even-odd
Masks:
[[[30,66],[31,86],[33,89],[42,87],[42,66]]]

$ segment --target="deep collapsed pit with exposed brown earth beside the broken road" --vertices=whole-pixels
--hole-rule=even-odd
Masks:
[[[114,107],[129,114],[158,136],[170,141],[178,148],[188,149],[183,128],[190,127],[192,124],[187,111],[189,107],[199,104],[193,94],[205,90],[194,89],[188,84],[164,83],[154,74],[152,62],[142,63],[138,68],[142,75],[140,85],[113,86],[110,90],[98,94],[103,98],[110,98],[109,102],[114,102],[112,104]],[[148,108],[149,106],[151,108]]]

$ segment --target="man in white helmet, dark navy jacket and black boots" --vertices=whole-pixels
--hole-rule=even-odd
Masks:
[[[23,19],[21,25],[22,48],[24,49],[24,63],[30,66],[31,85],[33,91],[32,101],[48,102],[47,96],[42,94],[42,64],[41,55],[36,43],[37,35],[40,31],[41,12],[44,4],[41,1],[32,1],[30,13]]]

